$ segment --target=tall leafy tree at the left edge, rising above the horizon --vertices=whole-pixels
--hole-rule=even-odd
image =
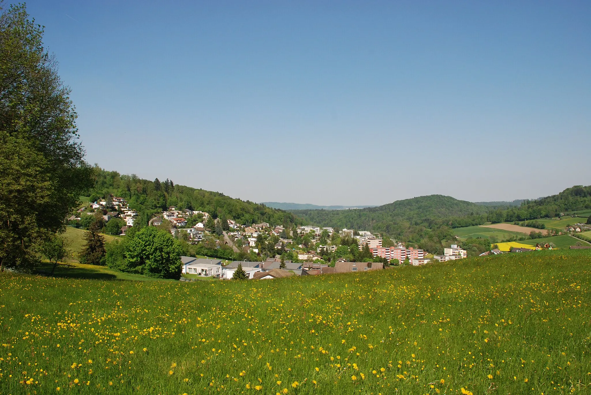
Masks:
[[[90,187],[70,90],[24,5],[0,4],[0,270],[31,269]]]

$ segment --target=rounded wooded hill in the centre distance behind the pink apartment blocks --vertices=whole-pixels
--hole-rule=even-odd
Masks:
[[[482,222],[488,208],[443,195],[398,200],[379,207],[358,210],[290,210],[296,216],[319,226],[353,228],[397,234],[413,225],[439,224],[469,226]]]

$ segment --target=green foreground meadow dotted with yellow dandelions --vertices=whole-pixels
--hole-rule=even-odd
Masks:
[[[0,273],[0,393],[588,393],[590,267],[557,250],[245,282]]]

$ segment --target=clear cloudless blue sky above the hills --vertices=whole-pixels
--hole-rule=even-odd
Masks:
[[[591,2],[29,1],[87,160],[253,201],[591,184]]]

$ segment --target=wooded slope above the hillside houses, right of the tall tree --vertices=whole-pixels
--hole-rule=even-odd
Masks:
[[[93,172],[94,186],[87,192],[90,200],[108,198],[109,195],[125,198],[129,201],[129,207],[138,211],[139,220],[144,224],[147,224],[151,214],[166,210],[171,205],[178,209],[205,211],[214,218],[226,217],[240,224],[268,222],[286,227],[301,224],[301,220],[287,211],[231,198],[220,192],[176,185],[168,179],[150,181],[135,175],[106,171],[96,165]]]

